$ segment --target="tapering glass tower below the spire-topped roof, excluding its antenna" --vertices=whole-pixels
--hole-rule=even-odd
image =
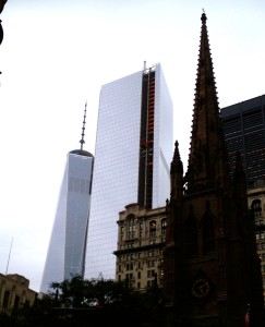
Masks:
[[[68,154],[40,292],[52,281],[84,276],[94,157],[85,150]]]

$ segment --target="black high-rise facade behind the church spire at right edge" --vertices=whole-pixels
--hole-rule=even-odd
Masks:
[[[220,111],[231,174],[242,156],[248,189],[265,185],[265,95]]]

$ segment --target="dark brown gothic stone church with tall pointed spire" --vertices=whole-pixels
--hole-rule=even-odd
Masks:
[[[202,14],[188,171],[178,142],[171,162],[164,253],[167,326],[262,326],[261,264],[240,155],[228,157]]]

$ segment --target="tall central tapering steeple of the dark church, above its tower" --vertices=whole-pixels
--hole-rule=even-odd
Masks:
[[[220,156],[225,148],[205,13],[201,20],[192,135],[185,177],[188,192],[215,185],[216,169],[221,166]]]

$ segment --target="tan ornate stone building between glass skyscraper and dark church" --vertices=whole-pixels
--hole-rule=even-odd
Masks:
[[[162,249],[166,242],[166,208],[146,209],[137,204],[119,214],[116,280],[144,290],[162,286]]]

